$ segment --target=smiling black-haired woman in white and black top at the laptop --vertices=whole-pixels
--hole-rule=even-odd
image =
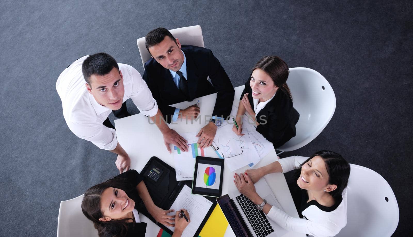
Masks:
[[[296,170],[297,187],[292,191],[294,203],[302,218],[293,218],[276,206],[265,203],[263,212],[286,230],[314,237],[335,236],[347,224],[347,182],[349,163],[339,154],[320,151],[311,157],[291,156],[267,166],[234,175],[238,190],[256,205],[263,204],[254,182],[269,173]],[[294,187],[290,187],[294,190]]]

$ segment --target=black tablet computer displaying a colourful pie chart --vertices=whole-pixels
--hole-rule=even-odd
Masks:
[[[192,194],[221,197],[224,159],[197,156]]]

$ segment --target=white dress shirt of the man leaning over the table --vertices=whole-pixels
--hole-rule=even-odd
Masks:
[[[97,103],[86,89],[82,63],[87,57],[76,60],[57,79],[56,90],[62,100],[63,116],[76,136],[92,142],[100,149],[113,150],[118,144],[116,131],[102,124],[112,110]],[[158,105],[140,73],[132,66],[118,65],[125,88],[122,103],[131,98],[142,114],[154,116]]]

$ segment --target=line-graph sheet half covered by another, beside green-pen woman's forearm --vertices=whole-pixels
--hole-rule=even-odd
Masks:
[[[269,142],[261,133],[256,131],[254,124],[251,124],[251,120],[248,122],[248,117],[242,117],[242,133],[244,133],[244,137],[248,136],[254,145],[260,159],[263,159],[271,150],[274,149],[274,146],[271,142]],[[249,167],[255,166],[256,163],[248,165]]]

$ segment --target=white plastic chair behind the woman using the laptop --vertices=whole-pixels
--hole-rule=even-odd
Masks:
[[[347,225],[336,237],[390,237],[399,223],[399,206],[387,181],[375,171],[350,164]]]

